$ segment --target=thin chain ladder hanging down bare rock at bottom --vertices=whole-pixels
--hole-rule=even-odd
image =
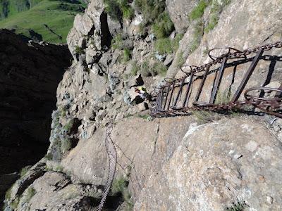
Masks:
[[[109,173],[106,181],[106,186],[104,188],[104,192],[102,194],[102,199],[99,203],[98,211],[102,211],[104,207],[104,203],[106,202],[106,198],[109,195],[109,191],[111,189],[111,184],[113,184],[114,176],[116,174],[116,163],[117,163],[117,153],[116,148],[114,146],[114,141],[111,139],[111,131],[113,129],[113,124],[110,123],[108,127],[106,127],[106,153],[109,158]]]

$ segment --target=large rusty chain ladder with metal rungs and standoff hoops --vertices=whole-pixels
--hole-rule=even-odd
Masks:
[[[253,87],[247,89],[244,92],[245,100],[240,100],[239,98],[245,89],[245,86],[250,79],[252,72],[254,72],[257,63],[262,59],[264,51],[270,51],[273,48],[282,48],[282,41],[277,41],[274,44],[266,44],[263,46],[258,46],[254,49],[246,49],[240,51],[231,47],[216,48],[209,51],[209,58],[212,58],[212,62],[204,64],[200,67],[193,65],[186,65],[180,68],[182,72],[185,73],[184,77],[179,79],[166,78],[164,79],[164,84],[156,86],[154,93],[152,94],[156,101],[152,103],[151,115],[154,117],[168,117],[176,115],[187,115],[191,110],[211,110],[211,111],[224,111],[232,110],[233,108],[242,108],[243,106],[254,106],[259,108],[264,113],[269,113],[271,115],[276,115],[277,117],[282,117],[281,108],[282,108],[282,86],[276,88],[267,88],[267,87]],[[226,53],[223,53],[221,56],[214,56],[212,52],[216,50],[227,50]],[[247,58],[250,54],[255,53],[254,58]],[[278,56],[276,56],[278,58]],[[238,89],[235,91],[231,101],[228,103],[215,103],[216,96],[219,92],[219,86],[223,78],[224,70],[232,66],[232,63],[227,63],[228,60],[237,59],[239,63],[245,63],[252,61],[250,67],[247,69],[243,79],[238,86]],[[279,60],[280,61],[280,60]],[[234,62],[233,62],[234,63]],[[214,68],[214,65],[220,64],[219,68],[211,70]],[[186,72],[183,70],[184,67],[190,68],[190,71]],[[199,72],[203,72],[202,75],[199,75]],[[214,84],[212,86],[212,93],[209,97],[209,102],[199,101],[202,89],[206,82],[207,76],[215,72]],[[194,101],[192,101],[192,106],[189,106],[190,96],[192,94],[192,85],[196,79],[201,79],[200,87],[197,89],[197,94]],[[186,91],[183,89],[186,87]],[[178,91],[176,89],[179,89]],[[264,91],[276,91],[276,94],[273,98],[265,98],[263,96],[253,96],[250,94],[252,91],[259,91],[261,94]],[[180,97],[184,93],[183,101],[180,100]],[[174,96],[173,96],[174,94]],[[176,94],[176,96],[175,96]]]

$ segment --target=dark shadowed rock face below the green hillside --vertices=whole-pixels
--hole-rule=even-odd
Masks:
[[[66,46],[28,42],[8,30],[0,31],[0,46],[0,174],[7,174],[46,153],[49,114],[71,55]]]

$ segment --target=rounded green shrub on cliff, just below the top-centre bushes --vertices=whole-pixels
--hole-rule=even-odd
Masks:
[[[152,30],[158,39],[168,37],[174,30],[173,22],[167,12],[161,13],[155,20]]]

